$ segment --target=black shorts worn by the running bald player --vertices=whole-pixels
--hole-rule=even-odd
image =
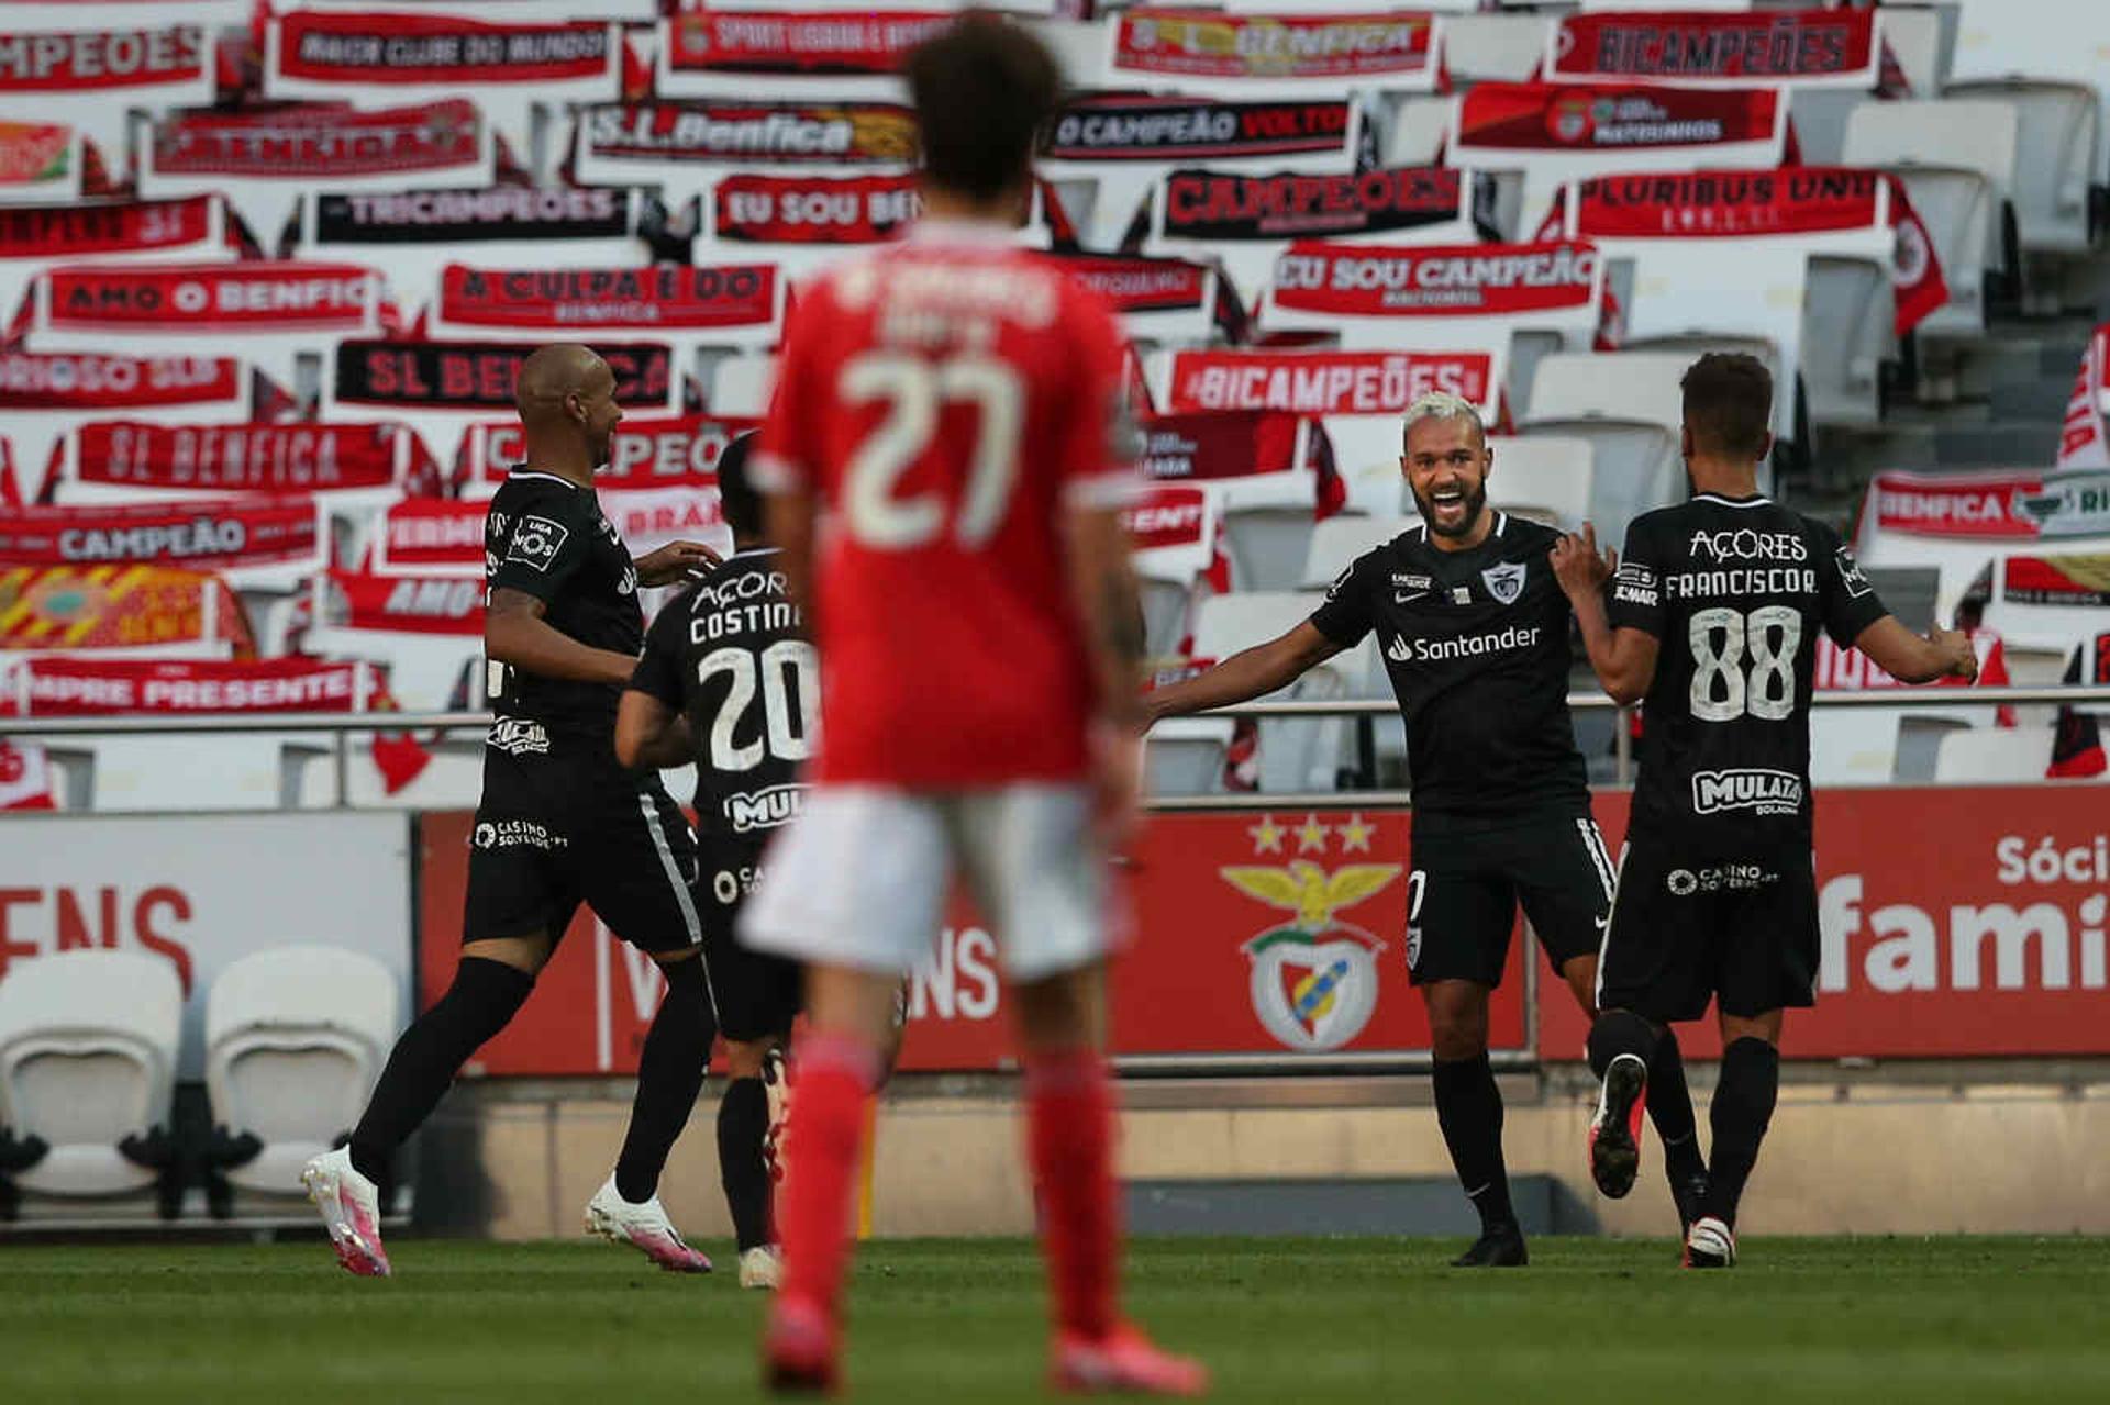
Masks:
[[[555,941],[584,903],[633,947],[682,951],[703,941],[694,875],[696,842],[656,774],[485,747],[462,941]]]

